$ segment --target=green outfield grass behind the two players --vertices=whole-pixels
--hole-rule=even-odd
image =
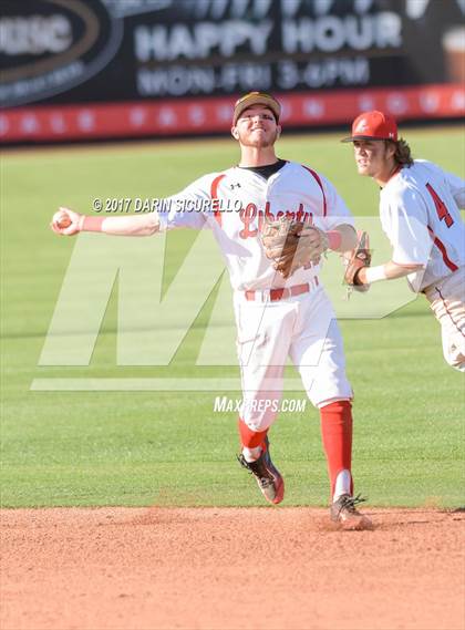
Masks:
[[[415,156],[464,175],[463,128],[412,130],[405,136]],[[351,148],[338,140],[334,134],[291,136],[280,141],[278,154],[326,174],[355,215],[376,215],[376,186],[355,175]],[[235,461],[236,414],[214,413],[215,392],[30,390],[38,378],[237,375],[237,368],[194,365],[209,304],[168,368],[117,366],[115,296],[90,366],[38,366],[75,244],[48,228],[58,206],[90,214],[93,197],[166,196],[236,161],[235,144],[219,140],[2,156],[4,507],[262,505]],[[193,238],[169,235],[165,288]],[[425,300],[381,320],[345,319],[341,328],[355,391],[356,489],[370,505],[463,506],[464,378],[444,363],[438,324]],[[324,505],[317,411],[309,404],[304,413],[282,414],[271,442],[287,482],[286,505]]]

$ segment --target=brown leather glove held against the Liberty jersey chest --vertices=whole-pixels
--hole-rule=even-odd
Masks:
[[[283,278],[310,262],[317,265],[328,249],[324,231],[286,217],[266,220],[260,237],[267,258]]]

